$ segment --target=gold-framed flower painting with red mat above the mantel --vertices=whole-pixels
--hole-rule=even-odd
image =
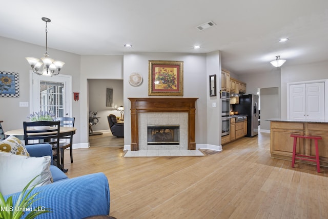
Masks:
[[[149,63],[149,96],[183,96],[183,61]]]

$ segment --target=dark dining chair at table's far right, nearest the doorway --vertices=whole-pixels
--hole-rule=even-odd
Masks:
[[[60,122],[61,127],[74,127],[75,117],[56,117],[55,121]],[[70,148],[71,163],[73,163],[73,134],[68,137],[60,137],[64,141],[59,142],[60,163],[64,168],[64,150]],[[69,139],[69,142],[67,140]]]

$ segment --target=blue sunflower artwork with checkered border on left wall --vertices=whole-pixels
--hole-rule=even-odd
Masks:
[[[19,97],[18,73],[0,71],[0,96]]]

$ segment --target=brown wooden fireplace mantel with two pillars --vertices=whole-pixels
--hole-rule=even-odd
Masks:
[[[139,150],[139,112],[188,112],[188,150],[195,150],[196,98],[128,98],[131,101],[131,150]]]

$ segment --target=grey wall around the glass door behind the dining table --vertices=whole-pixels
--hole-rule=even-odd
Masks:
[[[18,72],[19,74],[19,97],[0,97],[0,120],[3,120],[5,131],[22,129],[23,122],[29,121],[29,107],[19,107],[19,102],[29,102],[30,106],[30,65],[25,57],[43,57],[44,46],[28,44],[14,39],[0,37],[0,71]],[[72,75],[72,91],[80,91],[80,56],[48,48],[51,58],[65,62],[61,74]],[[72,116],[75,119],[75,127],[80,125],[79,102],[72,103]],[[80,132],[77,130],[74,135],[74,143],[79,143]]]

